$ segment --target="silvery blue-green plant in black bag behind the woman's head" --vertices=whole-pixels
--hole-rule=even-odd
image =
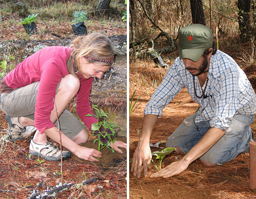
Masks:
[[[87,19],[84,11],[76,11],[74,13],[75,19],[72,20],[75,24],[72,25],[72,29],[75,35],[87,35],[87,28],[84,21]]]

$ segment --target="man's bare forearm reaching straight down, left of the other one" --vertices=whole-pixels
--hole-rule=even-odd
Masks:
[[[158,120],[158,115],[147,114],[144,115],[141,137],[139,138],[138,145],[150,144],[151,132],[155,127],[155,123]]]

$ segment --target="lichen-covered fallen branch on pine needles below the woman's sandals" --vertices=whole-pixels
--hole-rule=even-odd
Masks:
[[[97,180],[101,180],[101,177],[92,177],[89,180],[82,181],[82,184],[90,184],[94,183]],[[69,183],[69,184],[59,184],[56,185],[55,188],[49,189],[49,190],[43,190],[41,193],[37,193],[38,190],[34,190],[36,193],[32,193],[30,197],[27,199],[40,199],[40,198],[46,198],[46,197],[51,197],[51,196],[56,196],[56,193],[63,192],[64,190],[67,190],[71,188],[72,186],[76,186],[76,184]]]

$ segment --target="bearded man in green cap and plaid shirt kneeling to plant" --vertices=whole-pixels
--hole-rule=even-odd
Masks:
[[[237,63],[213,45],[212,30],[201,24],[181,28],[179,57],[144,109],[142,133],[134,152],[131,172],[144,176],[152,158],[150,136],[163,108],[185,86],[200,109],[186,118],[170,135],[166,147],[185,154],[180,160],[154,173],[170,177],[185,171],[196,159],[208,166],[225,164],[249,150],[254,141],[256,96]]]

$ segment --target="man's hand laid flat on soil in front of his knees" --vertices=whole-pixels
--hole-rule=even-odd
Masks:
[[[166,168],[161,169],[159,172],[154,173],[150,177],[171,177],[178,175],[185,171],[185,169],[188,168],[189,163],[184,161],[183,159],[180,159],[178,161],[175,161],[174,163],[171,163]]]

